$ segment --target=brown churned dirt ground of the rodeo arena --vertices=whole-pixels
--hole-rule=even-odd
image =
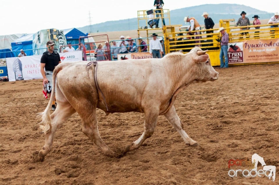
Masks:
[[[82,133],[75,113],[57,131],[45,160],[36,161],[45,140],[36,114],[48,103],[42,79],[1,82],[0,184],[279,184],[279,64],[216,70],[217,81],[191,84],[175,102],[186,133],[200,146],[186,146],[159,116],[153,136],[121,158],[103,155]],[[97,112],[101,137],[112,150],[143,132],[141,113]],[[230,159],[254,153],[276,166],[275,182],[264,175],[228,175],[249,169],[229,169]]]

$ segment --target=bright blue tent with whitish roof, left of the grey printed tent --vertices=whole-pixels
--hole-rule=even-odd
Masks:
[[[13,51],[24,50],[27,56],[33,55],[33,39],[35,33],[25,34],[11,43]],[[19,52],[17,52],[19,54]]]

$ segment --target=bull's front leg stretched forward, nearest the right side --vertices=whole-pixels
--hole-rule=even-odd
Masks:
[[[183,124],[181,123],[180,118],[178,117],[174,106],[172,106],[167,113],[164,114],[167,120],[172,124],[172,126],[178,131],[182,136],[184,142],[190,146],[198,146],[198,143],[191,139],[185,130],[183,130]]]

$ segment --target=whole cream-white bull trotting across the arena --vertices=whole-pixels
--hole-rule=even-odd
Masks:
[[[57,108],[50,115],[54,99],[52,93],[47,108],[40,113],[46,141],[38,158],[44,160],[52,149],[57,128],[75,112],[81,117],[83,133],[105,155],[111,157],[140,147],[154,133],[159,115],[167,118],[186,144],[197,146],[197,142],[183,130],[174,101],[177,94],[189,84],[218,79],[219,73],[211,66],[209,55],[205,52],[193,48],[187,54],[174,52],[162,59],[103,61],[95,67],[84,61],[59,64],[53,71]],[[99,135],[96,108],[106,114],[131,111],[144,113],[144,132],[139,139],[128,144],[121,154],[116,154]]]

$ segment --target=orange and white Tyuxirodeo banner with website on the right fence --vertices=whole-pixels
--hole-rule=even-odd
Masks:
[[[229,64],[279,61],[279,39],[246,40],[229,43]]]

